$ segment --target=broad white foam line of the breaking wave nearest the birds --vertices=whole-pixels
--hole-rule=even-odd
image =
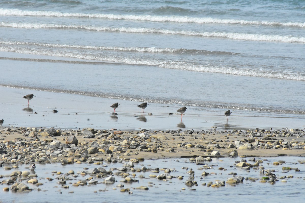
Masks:
[[[254,77],[267,77],[267,78],[278,78],[278,79],[287,79],[287,80],[299,80],[305,81],[305,76],[300,74],[287,74],[282,72],[271,72],[268,70],[262,71],[258,69],[240,69],[240,68],[231,68],[227,66],[213,66],[213,65],[198,65],[191,64],[184,61],[161,61],[161,60],[143,60],[139,58],[121,58],[113,56],[101,56],[95,54],[77,54],[74,52],[58,52],[58,51],[48,51],[36,49],[27,49],[27,48],[15,48],[15,47],[0,47],[0,51],[6,52],[17,52],[22,54],[35,54],[35,55],[47,55],[47,56],[56,56],[56,57],[65,57],[65,58],[77,58],[82,60],[95,60],[102,62],[110,63],[124,63],[131,65],[154,65],[160,68],[171,68],[171,69],[182,69],[188,71],[196,72],[213,72],[213,73],[223,73],[231,75],[243,75],[243,76],[254,76]]]

